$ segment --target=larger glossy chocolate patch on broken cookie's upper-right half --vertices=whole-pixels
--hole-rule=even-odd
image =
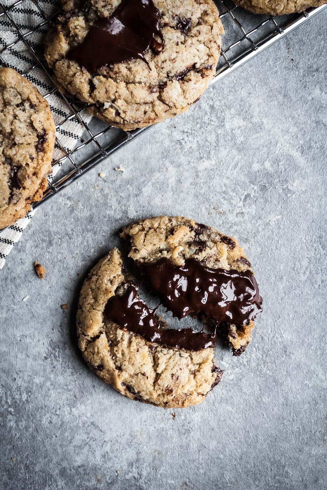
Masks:
[[[262,311],[262,298],[251,270],[210,269],[196,259],[188,259],[179,267],[163,258],[143,264],[142,272],[178,319],[205,315],[217,325],[226,321],[241,326]]]

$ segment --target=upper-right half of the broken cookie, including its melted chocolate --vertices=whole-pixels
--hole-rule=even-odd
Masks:
[[[181,217],[127,226],[121,236],[145,283],[179,319],[218,330],[238,356],[250,342],[262,298],[248,258],[234,238]]]

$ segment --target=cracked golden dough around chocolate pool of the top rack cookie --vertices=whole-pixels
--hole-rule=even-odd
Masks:
[[[45,56],[58,87],[88,104],[88,111],[123,129],[158,123],[186,111],[213,78],[223,26],[212,0],[153,0],[160,12],[164,49],[89,73],[67,58],[89,29],[109,18],[117,0],[63,0],[63,13],[46,40]]]

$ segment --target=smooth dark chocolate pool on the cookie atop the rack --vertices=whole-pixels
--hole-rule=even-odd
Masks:
[[[98,19],[90,27],[84,41],[70,49],[67,57],[90,73],[134,58],[148,64],[146,51],[151,47],[158,54],[164,47],[159,20],[160,12],[152,0],[122,0],[109,19]]]

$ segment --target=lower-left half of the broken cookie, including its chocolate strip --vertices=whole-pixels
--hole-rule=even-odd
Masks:
[[[165,408],[196,405],[222,377],[214,365],[215,336],[167,329],[138,298],[117,248],[85,280],[76,323],[89,367],[132,400]]]

